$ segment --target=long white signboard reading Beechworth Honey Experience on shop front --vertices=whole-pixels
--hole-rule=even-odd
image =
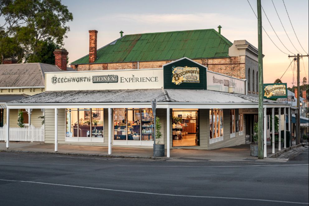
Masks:
[[[45,91],[161,89],[163,69],[45,73]]]

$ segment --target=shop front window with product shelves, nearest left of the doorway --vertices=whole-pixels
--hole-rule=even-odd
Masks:
[[[114,109],[114,140],[153,140],[154,116],[151,109]]]

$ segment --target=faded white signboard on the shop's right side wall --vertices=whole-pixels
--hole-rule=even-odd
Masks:
[[[229,92],[233,88],[234,93],[246,94],[245,80],[207,71],[207,90]]]

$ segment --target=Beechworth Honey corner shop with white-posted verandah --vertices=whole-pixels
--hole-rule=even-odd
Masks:
[[[45,82],[45,92],[7,108],[44,109],[45,142],[55,143],[55,151],[58,144],[108,146],[109,154],[115,146],[152,148],[154,99],[167,156],[174,148],[250,143],[253,135],[258,98],[248,95],[247,80],[209,71],[186,57],[156,69],[45,73]],[[264,99],[265,148],[267,115],[286,118],[289,108]]]

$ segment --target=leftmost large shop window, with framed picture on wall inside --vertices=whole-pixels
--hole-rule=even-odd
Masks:
[[[66,109],[66,137],[103,137],[103,108]]]

